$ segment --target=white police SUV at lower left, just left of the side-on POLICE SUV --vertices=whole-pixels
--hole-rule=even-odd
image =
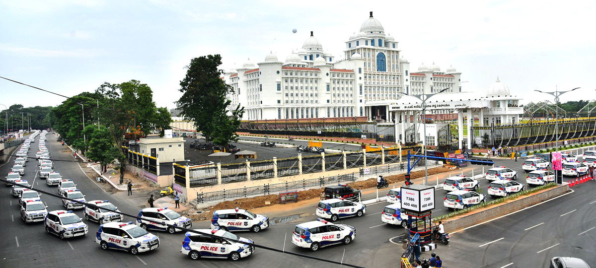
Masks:
[[[60,239],[86,235],[88,226],[73,211],[49,211],[44,219],[45,232],[52,233]]]

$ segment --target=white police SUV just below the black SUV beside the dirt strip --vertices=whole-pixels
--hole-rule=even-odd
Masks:
[[[316,216],[324,219],[331,219],[331,222],[335,222],[337,219],[343,217],[361,217],[366,212],[366,205],[360,204],[359,202],[347,201],[343,198],[321,200],[316,206]]]

